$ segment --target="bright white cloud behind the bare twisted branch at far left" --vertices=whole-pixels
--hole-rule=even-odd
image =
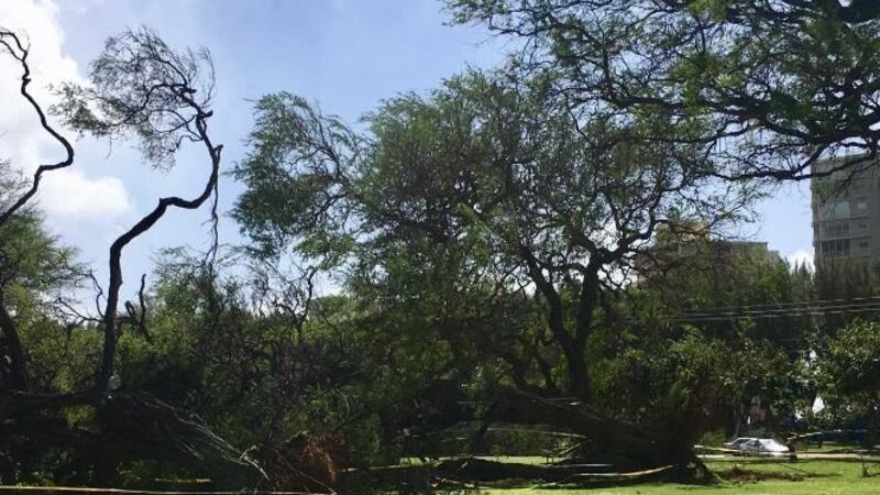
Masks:
[[[0,0],[0,26],[14,31],[30,46],[32,82],[28,89],[44,110],[53,102],[50,85],[84,81],[76,61],[63,53],[64,32],[53,1]],[[58,162],[65,155],[19,95],[21,74],[19,63],[0,52],[0,158],[30,176],[40,164]],[[81,167],[75,163],[72,168],[44,176],[40,199],[51,216],[113,218],[131,209],[121,180],[90,177]]]

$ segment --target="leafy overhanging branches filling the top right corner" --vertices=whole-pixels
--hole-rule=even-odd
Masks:
[[[455,22],[521,40],[517,69],[579,105],[705,122],[719,175],[805,179],[870,166],[880,10],[861,1],[449,0]],[[658,136],[663,139],[663,136]],[[825,170],[817,160],[847,155]]]

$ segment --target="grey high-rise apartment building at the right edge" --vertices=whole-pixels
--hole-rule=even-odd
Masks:
[[[839,165],[826,160],[813,172]],[[817,267],[880,261],[880,174],[875,166],[813,179],[813,248]]]

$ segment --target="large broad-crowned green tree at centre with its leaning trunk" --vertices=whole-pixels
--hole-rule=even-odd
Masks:
[[[559,97],[560,84],[468,74],[427,97],[387,101],[363,134],[301,98],[264,97],[251,153],[234,172],[248,187],[235,216],[268,253],[345,268],[355,296],[365,280],[391,287],[378,305],[430,299],[424,309],[440,318],[469,298],[536,294],[576,410],[512,395],[495,411],[581,429],[639,465],[690,462],[674,432],[646,432],[590,407],[588,342],[658,226],[721,231],[747,212],[751,191],[714,182],[698,140],[647,139],[673,116],[584,111]],[[505,327],[472,328],[471,339]],[[531,376],[548,375],[540,360],[528,365]]]

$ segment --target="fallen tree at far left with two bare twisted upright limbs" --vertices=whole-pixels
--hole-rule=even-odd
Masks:
[[[21,95],[34,108],[42,128],[66,151],[62,162],[42,165],[18,196],[2,206],[0,229],[9,232],[26,220],[28,202],[37,191],[44,174],[70,166],[73,146],[50,124],[43,107],[28,92],[31,73],[29,47],[10,31],[0,30],[0,43],[8,54],[21,64]],[[99,364],[87,378],[86,386],[76,388],[33,389],[28,386],[26,350],[16,339],[15,318],[3,307],[0,327],[11,358],[9,387],[0,396],[0,417],[3,420],[2,443],[15,460],[15,446],[26,444],[29,451],[53,447],[73,448],[85,459],[94,459],[92,482],[109,483],[117,476],[117,465],[123,459],[175,459],[179,466],[213,472],[217,481],[241,487],[264,477],[246,457],[213,435],[197,417],[148,396],[127,393],[116,375],[117,343],[123,326],[142,324],[145,308],[127,305],[121,315],[120,292],[123,283],[122,254],[124,248],[148,231],[172,209],[198,209],[213,198],[211,218],[217,221],[217,188],[222,145],[209,133],[213,114],[213,67],[207,51],[174,51],[148,29],[128,31],[107,41],[102,54],[90,66],[87,86],[64,85],[59,102],[53,108],[72,129],[109,139],[139,140],[145,161],[157,167],[174,166],[175,153],[184,145],[195,144],[205,153],[205,182],[190,197],[167,196],[133,226],[119,235],[109,249],[109,280],[98,295],[102,304],[97,316],[79,318],[74,327],[86,323],[82,331],[97,328],[102,336]],[[4,177],[6,178],[6,177]],[[6,191],[4,191],[6,193]],[[26,223],[26,222],[25,222]],[[3,242],[6,250],[14,242]],[[10,261],[4,256],[2,262]],[[48,262],[48,260],[45,260]],[[210,262],[210,260],[209,260]],[[8,268],[3,266],[3,271]],[[143,286],[141,292],[143,292]],[[6,301],[6,293],[0,305]],[[143,301],[143,298],[141,298]],[[67,306],[67,309],[76,308]],[[9,317],[9,318],[7,318]],[[78,324],[77,324],[78,323]],[[68,331],[70,331],[68,329]],[[59,334],[58,338],[62,338]],[[23,376],[20,376],[23,375]],[[79,428],[64,420],[66,410],[80,407],[90,410],[94,428]],[[88,426],[88,425],[87,425]],[[97,453],[96,453],[97,452]],[[15,469],[12,469],[14,476]],[[8,474],[8,473],[7,473]],[[26,474],[26,473],[25,473]]]

